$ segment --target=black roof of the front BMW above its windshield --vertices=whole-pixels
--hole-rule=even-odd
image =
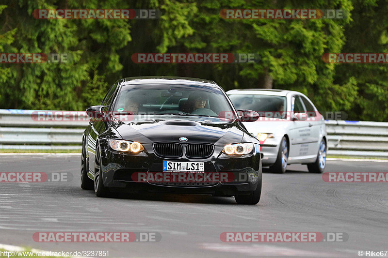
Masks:
[[[141,76],[141,77],[126,77],[123,78],[123,85],[129,84],[187,84],[187,85],[206,85],[209,87],[219,88],[214,81],[175,76]]]

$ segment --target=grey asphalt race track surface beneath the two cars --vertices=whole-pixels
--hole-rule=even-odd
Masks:
[[[67,172],[69,182],[0,183],[0,243],[109,257],[359,257],[388,250],[387,183],[329,183],[307,167],[263,174],[258,205],[233,197],[99,198],[80,188],[80,156],[0,155],[0,172]],[[328,161],[327,172],[387,172],[388,162]],[[38,243],[40,231],[159,232],[156,243]],[[222,232],[344,232],[346,242],[223,243]],[[388,256],[388,254],[387,254]]]

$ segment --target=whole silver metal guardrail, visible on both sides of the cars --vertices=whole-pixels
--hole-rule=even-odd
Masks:
[[[63,111],[61,117],[52,112],[52,119],[41,119],[37,110],[0,109],[0,149],[81,149],[86,113]],[[388,158],[388,122],[331,120],[326,130],[328,154]]]

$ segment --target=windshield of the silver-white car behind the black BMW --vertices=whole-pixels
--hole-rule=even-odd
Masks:
[[[230,100],[236,109],[249,109],[259,113],[260,117],[286,119],[287,99],[284,96],[230,94]]]

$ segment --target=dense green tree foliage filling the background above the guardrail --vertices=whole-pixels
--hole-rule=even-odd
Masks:
[[[3,1],[4,2],[4,1]],[[158,20],[38,20],[34,9],[157,8]],[[224,20],[224,8],[344,9],[339,20]],[[82,110],[124,76],[187,76],[225,90],[305,93],[320,110],[388,121],[386,64],[327,64],[328,52],[387,52],[388,0],[5,0],[0,52],[70,53],[61,64],[0,64],[0,108]],[[256,53],[256,64],[136,64],[136,52]]]

